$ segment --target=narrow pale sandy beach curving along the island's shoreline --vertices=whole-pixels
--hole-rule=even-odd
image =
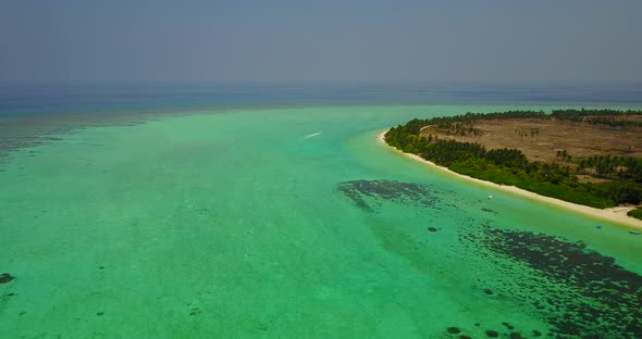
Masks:
[[[456,176],[456,177],[459,177],[459,178],[462,178],[462,179],[466,179],[469,181],[473,181],[473,183],[477,183],[477,184],[480,184],[483,186],[493,187],[495,189],[499,189],[499,190],[510,192],[510,193],[514,193],[517,196],[527,197],[527,198],[534,199],[538,201],[551,203],[556,206],[560,206],[560,208],[564,208],[564,209],[567,209],[567,210],[570,210],[570,211],[573,211],[577,213],[581,213],[581,214],[584,214],[584,215],[588,215],[588,216],[591,216],[594,218],[598,218],[598,219],[603,219],[603,221],[607,221],[607,222],[612,222],[612,223],[616,223],[616,224],[620,224],[620,225],[626,225],[631,228],[642,230],[642,221],[627,215],[627,212],[629,212],[630,210],[633,210],[634,208],[617,206],[617,208],[600,210],[600,209],[590,208],[590,206],[585,206],[585,205],[551,198],[551,197],[540,196],[538,193],[533,193],[531,191],[527,191],[524,189],[517,188],[515,186],[505,186],[505,185],[499,185],[499,184],[495,184],[495,183],[491,183],[491,181],[480,180],[480,179],[477,179],[477,178],[473,178],[473,177],[470,177],[467,175],[462,175],[462,174],[453,172],[444,166],[439,166],[435,163],[424,160],[419,155],[404,153],[404,152],[388,146],[387,143],[385,143],[385,140],[384,140],[384,135],[386,131],[387,130],[384,130],[378,136],[378,139],[381,142],[383,142],[386,147],[390,147],[392,150],[394,150],[396,152],[399,152],[399,153],[402,153],[410,159],[413,159],[416,161],[422,162],[433,168],[448,173],[453,176]]]

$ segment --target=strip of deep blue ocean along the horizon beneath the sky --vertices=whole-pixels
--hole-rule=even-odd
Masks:
[[[642,85],[0,85],[0,116],[349,104],[634,105]]]

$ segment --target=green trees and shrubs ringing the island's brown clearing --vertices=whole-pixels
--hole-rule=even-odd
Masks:
[[[510,111],[487,114],[467,113],[430,120],[415,118],[404,126],[391,128],[385,135],[385,141],[404,152],[417,154],[460,174],[604,209],[620,203],[638,204],[642,201],[641,160],[594,156],[579,161],[577,171],[572,171],[566,165],[572,161],[572,156],[566,150],[557,153],[559,163],[532,162],[517,149],[486,150],[476,142],[440,140],[439,136],[420,136],[420,131],[424,126],[435,126],[456,134],[474,135],[480,133],[473,127],[473,123],[479,120],[554,117],[577,123],[590,117],[591,123],[608,124],[612,122],[609,118],[615,121],[616,116],[621,115],[642,115],[642,111],[558,110],[553,111],[551,115],[534,111]],[[614,123],[614,126],[628,128],[637,126],[635,124],[635,121],[626,121],[624,124]],[[579,183],[576,175],[578,173],[616,180],[601,184]]]

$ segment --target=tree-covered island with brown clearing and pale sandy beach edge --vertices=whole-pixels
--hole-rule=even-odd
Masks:
[[[468,179],[642,225],[633,218],[642,218],[642,111],[569,109],[415,118],[390,128],[381,139]]]

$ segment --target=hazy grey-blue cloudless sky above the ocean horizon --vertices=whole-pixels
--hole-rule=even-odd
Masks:
[[[640,0],[2,0],[0,83],[641,84]]]

